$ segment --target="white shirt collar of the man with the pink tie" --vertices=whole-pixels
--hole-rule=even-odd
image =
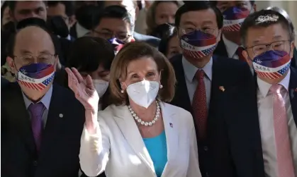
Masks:
[[[288,91],[288,85],[290,83],[290,75],[291,75],[291,71],[288,70],[286,77],[283,80],[281,80],[281,82],[279,82],[279,84],[283,85],[287,91]],[[263,97],[266,97],[270,90],[271,84],[266,83],[264,80],[261,80],[258,77],[257,77],[257,83],[258,83],[259,91],[261,92]]]

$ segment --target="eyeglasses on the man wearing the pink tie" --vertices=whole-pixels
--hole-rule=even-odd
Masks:
[[[273,51],[284,51],[286,42],[291,42],[291,40],[281,40],[271,42],[270,44],[261,44],[254,45],[252,47],[247,47],[246,50],[252,49],[254,55],[263,54],[265,51],[273,50]]]

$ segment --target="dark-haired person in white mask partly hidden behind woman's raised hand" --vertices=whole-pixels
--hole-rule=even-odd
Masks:
[[[114,56],[113,47],[106,39],[88,36],[79,37],[68,54],[67,67],[77,68],[83,78],[91,76],[99,97],[102,97],[99,109],[108,106],[109,73]],[[68,85],[67,79],[65,85]]]

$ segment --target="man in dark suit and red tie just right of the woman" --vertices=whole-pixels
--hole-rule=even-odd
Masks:
[[[260,152],[238,153],[246,152],[247,143],[242,149],[231,148],[230,137],[242,143],[250,135],[237,137],[233,130],[242,123],[240,116],[225,115],[237,111],[230,105],[242,102],[253,80],[246,62],[213,55],[223,16],[210,1],[185,1],[176,11],[175,25],[182,54],[171,59],[177,80],[171,104],[190,111],[194,118],[202,176],[264,176],[255,160]]]

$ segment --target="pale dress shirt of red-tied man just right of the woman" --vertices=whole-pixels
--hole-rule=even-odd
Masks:
[[[189,97],[191,104],[193,102],[194,93],[196,91],[196,87],[198,85],[198,81],[195,78],[196,71],[199,68],[196,68],[196,66],[192,65],[189,61],[187,61],[184,56],[182,58],[182,65],[184,67],[184,76],[186,78],[186,87],[189,92]],[[211,102],[211,80],[213,78],[213,57],[211,57],[211,60],[208,61],[206,66],[201,68],[205,75],[204,75],[204,84],[206,85],[206,102],[207,102],[207,108],[209,109],[209,103]]]

